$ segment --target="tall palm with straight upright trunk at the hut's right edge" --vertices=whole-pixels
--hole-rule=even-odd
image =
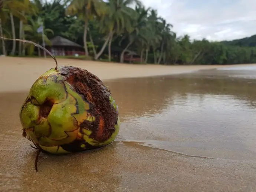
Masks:
[[[85,21],[83,44],[86,55],[89,54],[87,47],[88,22],[95,17],[102,16],[104,13],[105,3],[102,0],[72,0],[66,10],[66,14],[76,15]]]

